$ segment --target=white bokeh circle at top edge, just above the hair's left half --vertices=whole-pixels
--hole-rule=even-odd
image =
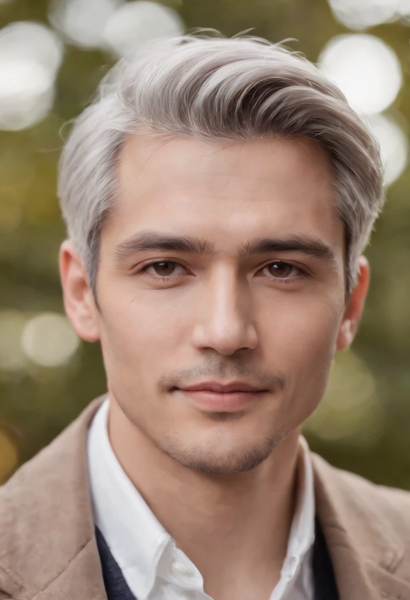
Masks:
[[[115,55],[125,56],[137,50],[141,43],[179,35],[183,28],[182,19],[172,8],[136,0],[122,5],[108,19],[104,45]]]

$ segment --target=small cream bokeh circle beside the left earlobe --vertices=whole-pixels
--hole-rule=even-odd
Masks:
[[[26,323],[22,346],[35,364],[59,367],[73,357],[79,347],[79,338],[62,314],[43,313]]]

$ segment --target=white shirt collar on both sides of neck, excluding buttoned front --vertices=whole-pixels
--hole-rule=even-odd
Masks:
[[[95,524],[111,554],[132,580],[137,596],[146,596],[155,582],[158,563],[173,540],[126,476],[108,439],[108,397],[91,424],[88,465]],[[281,583],[288,587],[309,557],[315,540],[315,496],[310,452],[299,437],[297,498]]]

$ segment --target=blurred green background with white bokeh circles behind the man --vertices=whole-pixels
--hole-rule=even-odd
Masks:
[[[99,346],[62,306],[68,121],[120,56],[198,27],[296,38],[378,137],[387,204],[367,308],[305,436],[336,466],[410,490],[410,0],[0,0],[0,482],[105,392]]]

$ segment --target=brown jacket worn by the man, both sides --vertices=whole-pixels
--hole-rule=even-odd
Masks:
[[[86,464],[100,403],[0,488],[0,599],[107,600]],[[410,493],[312,460],[340,600],[410,600]]]

